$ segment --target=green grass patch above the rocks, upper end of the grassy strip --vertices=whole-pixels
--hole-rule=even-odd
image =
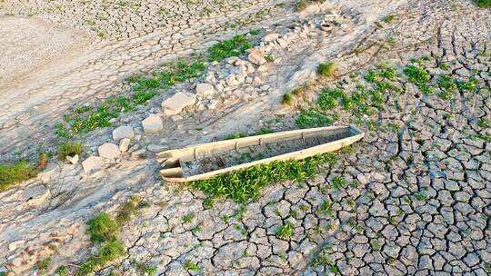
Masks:
[[[251,47],[252,44],[249,43],[246,35],[237,34],[232,39],[225,40],[209,48],[208,61],[219,62],[231,56],[240,56],[246,54],[246,50]]]

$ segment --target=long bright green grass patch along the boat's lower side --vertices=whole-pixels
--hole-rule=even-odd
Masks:
[[[210,198],[229,198],[237,203],[256,201],[266,186],[275,182],[304,182],[313,177],[317,167],[334,164],[335,153],[326,153],[303,161],[274,162],[257,165],[246,170],[225,173],[215,178],[189,183],[195,190],[205,192]]]

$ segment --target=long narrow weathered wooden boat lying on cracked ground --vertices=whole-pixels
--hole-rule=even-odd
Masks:
[[[167,182],[194,182],[274,161],[334,152],[364,137],[354,125],[268,133],[202,143],[157,154]]]

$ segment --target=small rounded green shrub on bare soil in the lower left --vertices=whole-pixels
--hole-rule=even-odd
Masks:
[[[91,242],[101,243],[115,240],[118,225],[111,215],[101,212],[88,222],[88,226]]]

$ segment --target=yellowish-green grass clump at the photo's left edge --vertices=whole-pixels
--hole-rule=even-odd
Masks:
[[[34,178],[36,175],[35,168],[26,161],[15,164],[0,164],[0,192],[12,188],[15,184]]]

